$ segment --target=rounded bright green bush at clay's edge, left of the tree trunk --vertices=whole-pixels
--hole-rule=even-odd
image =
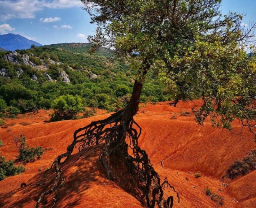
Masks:
[[[82,112],[83,104],[80,96],[62,95],[55,99],[52,104],[54,114],[51,121],[75,119],[76,114]]]

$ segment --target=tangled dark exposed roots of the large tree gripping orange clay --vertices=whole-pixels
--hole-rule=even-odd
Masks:
[[[140,126],[133,120],[133,117],[124,122],[124,112],[124,109],[120,110],[107,119],[92,122],[74,132],[74,140],[67,147],[67,152],[60,154],[53,161],[52,167],[55,169],[56,177],[52,188],[40,195],[36,207],[39,207],[44,197],[52,192],[55,192],[53,200],[55,204],[57,189],[62,187],[65,182],[61,165],[69,159],[74,147],[78,147],[79,156],[81,156],[99,145],[101,145],[99,161],[106,169],[107,177],[110,180],[115,179],[113,170],[111,170],[111,161],[122,158],[122,162],[129,170],[131,178],[137,181],[138,191],[134,195],[141,195],[137,198],[140,198],[142,204],[149,208],[156,205],[160,208],[172,207],[173,197],[164,198],[164,188],[173,189],[180,200],[177,191],[168,183],[166,178],[163,183],[160,183],[160,176],[150,163],[148,154],[138,146],[138,138],[141,134]],[[135,128],[139,129],[139,132]],[[65,159],[64,162],[61,162],[62,159]]]

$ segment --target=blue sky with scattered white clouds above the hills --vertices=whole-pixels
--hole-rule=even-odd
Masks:
[[[223,14],[247,14],[244,26],[256,21],[256,0],[222,0]],[[43,45],[87,42],[95,25],[80,0],[0,0],[0,34],[20,34]]]

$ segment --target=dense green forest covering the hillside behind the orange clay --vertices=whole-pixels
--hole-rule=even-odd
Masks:
[[[52,108],[54,100],[62,95],[79,96],[84,106],[116,111],[129,99],[134,82],[134,72],[123,60],[110,59],[110,49],[100,48],[88,53],[90,44],[63,43],[44,47],[17,50],[19,56],[27,54],[36,65],[47,63],[40,70],[28,64],[13,63],[4,59],[9,52],[0,52],[0,69],[8,76],[0,76],[0,111],[15,116],[40,108]],[[19,60],[20,57],[17,57]],[[43,60],[43,61],[42,61]],[[54,60],[56,63],[51,62]],[[57,64],[58,63],[58,64]],[[22,69],[22,73],[18,72]],[[70,83],[63,82],[59,71],[64,70]],[[91,78],[89,73],[97,75]],[[45,73],[53,81],[49,81]],[[32,76],[36,75],[36,80]],[[141,102],[170,100],[164,85],[151,74],[144,85]],[[9,108],[8,108],[9,107]],[[11,108],[10,108],[11,107]]]

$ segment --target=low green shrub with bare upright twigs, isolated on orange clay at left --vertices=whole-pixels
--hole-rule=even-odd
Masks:
[[[19,148],[19,156],[17,159],[22,162],[30,162],[35,161],[35,157],[40,159],[41,155],[44,153],[44,149],[42,147],[37,146],[36,148],[28,147],[26,145],[26,137],[19,135],[15,137],[16,146]],[[20,145],[18,145],[20,144]]]

